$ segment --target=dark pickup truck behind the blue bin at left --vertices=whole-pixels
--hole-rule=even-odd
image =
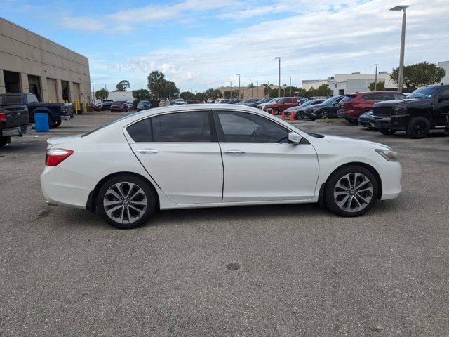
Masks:
[[[29,121],[34,123],[34,114],[48,115],[48,125],[57,128],[61,121],[73,118],[73,108],[70,103],[42,103],[33,93],[4,93],[4,105],[26,105],[29,112]]]

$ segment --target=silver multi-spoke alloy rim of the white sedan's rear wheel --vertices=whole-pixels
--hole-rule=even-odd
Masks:
[[[148,201],[144,190],[135,183],[123,181],[109,187],[103,199],[103,208],[117,223],[134,223],[142,218]]]

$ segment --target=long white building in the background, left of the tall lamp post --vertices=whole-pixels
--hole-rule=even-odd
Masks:
[[[375,74],[361,74],[353,72],[352,74],[335,74],[328,79],[303,80],[302,88],[318,88],[323,84],[327,84],[333,91],[334,95],[343,95],[344,93],[362,93],[370,91],[369,86],[375,81]],[[391,81],[388,72],[379,72],[377,74],[377,83],[385,82],[385,89],[394,91],[397,85]]]

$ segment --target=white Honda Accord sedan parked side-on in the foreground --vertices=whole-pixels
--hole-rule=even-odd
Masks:
[[[159,209],[319,202],[361,216],[401,192],[386,145],[305,133],[243,105],[145,110],[80,136],[48,139],[48,204],[98,211],[118,228]]]

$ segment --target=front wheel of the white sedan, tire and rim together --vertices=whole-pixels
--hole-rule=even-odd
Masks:
[[[361,216],[373,207],[377,190],[377,180],[368,169],[345,166],[326,183],[326,206],[339,216]]]

